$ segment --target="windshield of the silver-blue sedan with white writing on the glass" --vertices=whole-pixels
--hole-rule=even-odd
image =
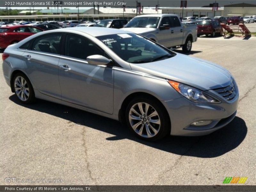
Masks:
[[[175,56],[154,42],[137,34],[113,34],[97,37],[122,60],[130,63],[148,63]]]

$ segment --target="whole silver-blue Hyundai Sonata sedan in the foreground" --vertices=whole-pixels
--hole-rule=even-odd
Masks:
[[[225,68],[128,31],[44,31],[2,57],[22,103],[40,98],[120,120],[145,140],[209,134],[236,115],[238,88]]]

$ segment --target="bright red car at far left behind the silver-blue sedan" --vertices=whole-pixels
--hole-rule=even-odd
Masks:
[[[0,28],[0,49],[5,49],[10,44],[18,43],[28,36],[43,31],[29,25],[10,25]]]

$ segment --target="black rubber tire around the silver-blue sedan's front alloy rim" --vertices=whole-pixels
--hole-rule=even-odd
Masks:
[[[150,109],[150,107],[148,108],[148,113],[147,113],[147,116],[145,116],[145,122],[143,123],[143,119],[144,119],[144,117],[143,116],[141,116],[140,118],[142,119],[142,120],[132,120],[132,121],[135,121],[135,124],[137,123],[137,122],[142,122],[143,124],[141,124],[141,125],[139,125],[138,127],[139,127],[139,129],[141,130],[141,129],[143,129],[143,131],[141,131],[141,133],[143,132],[143,133],[145,133],[145,134],[143,134],[142,136],[141,135],[139,135],[139,133],[137,133],[133,128],[132,128],[132,125],[131,125],[131,123],[130,123],[130,119],[129,119],[129,112],[130,112],[130,110],[131,110],[131,108],[135,105],[136,106],[136,104],[137,103],[147,103],[147,104],[149,104],[152,108],[152,110],[154,111],[154,110],[156,110],[156,112],[157,112],[157,114],[158,114],[158,116],[157,117],[159,117],[159,119],[160,119],[160,126],[158,125],[158,124],[154,124],[154,123],[151,123],[150,122],[150,120],[149,119],[147,119],[147,117],[149,117],[150,116],[150,113],[152,112],[152,110],[150,111],[149,109]],[[144,107],[145,107],[145,105],[144,105]],[[165,111],[165,110],[163,110],[163,105],[160,103],[160,101],[157,101],[157,100],[155,100],[155,99],[152,99],[152,98],[150,98],[150,97],[137,97],[137,98],[134,98],[133,100],[131,100],[130,102],[129,102],[129,104],[127,105],[127,108],[126,108],[126,111],[125,111],[125,120],[126,120],[126,124],[127,124],[127,126],[129,127],[129,129],[132,131],[132,133],[133,134],[135,134],[137,137],[139,137],[140,139],[143,139],[143,140],[147,140],[147,141],[156,141],[156,140],[160,140],[160,139],[162,139],[162,138],[164,138],[167,134],[170,134],[170,132],[171,132],[171,125],[170,125],[170,118],[169,118],[169,116],[168,116],[168,114],[167,114],[167,112]],[[143,108],[144,110],[146,109],[146,108]],[[146,110],[145,110],[146,111]],[[136,115],[136,114],[135,114]],[[137,115],[136,115],[137,116]],[[138,116],[139,117],[139,116]],[[152,116],[151,116],[152,117]],[[150,117],[150,118],[151,118]],[[153,119],[153,118],[152,118]],[[147,137],[148,136],[148,134],[147,134],[147,130],[146,130],[146,123],[147,124],[150,124],[149,126],[155,126],[155,125],[157,125],[158,127],[155,127],[156,128],[156,130],[158,130],[158,132],[154,135],[154,136],[152,136],[152,137]],[[151,129],[150,130],[152,133],[154,133],[153,132],[153,129]]]

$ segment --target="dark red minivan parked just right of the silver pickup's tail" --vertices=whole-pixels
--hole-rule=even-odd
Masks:
[[[212,35],[221,33],[220,23],[216,20],[204,20],[197,24],[197,37],[200,35]]]

